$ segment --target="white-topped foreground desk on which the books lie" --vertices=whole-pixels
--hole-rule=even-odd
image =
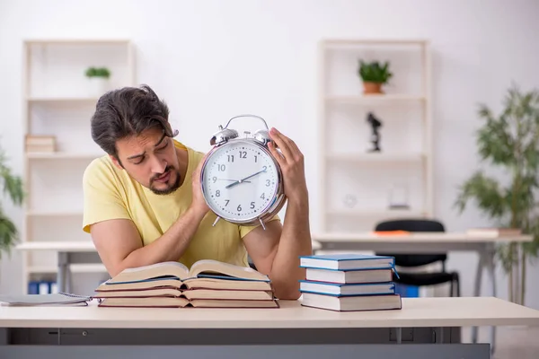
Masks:
[[[492,297],[402,298],[400,311],[0,307],[6,357],[490,358],[459,327],[539,326],[539,311]]]

